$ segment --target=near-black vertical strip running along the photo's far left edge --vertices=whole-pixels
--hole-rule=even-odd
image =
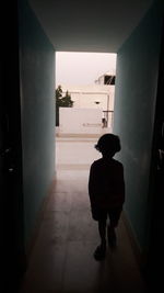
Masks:
[[[0,61],[0,259],[3,268],[1,288],[5,288],[7,292],[17,292],[26,267],[17,3],[11,2],[9,9],[9,3],[3,2],[1,11],[3,15],[8,15],[7,22],[2,18],[0,20],[3,40]]]

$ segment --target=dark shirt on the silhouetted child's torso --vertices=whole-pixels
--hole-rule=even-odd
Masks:
[[[92,207],[113,209],[125,202],[122,164],[101,158],[91,165],[89,195]]]

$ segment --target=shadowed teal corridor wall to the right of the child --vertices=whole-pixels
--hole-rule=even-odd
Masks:
[[[120,136],[125,165],[125,210],[136,240],[149,234],[149,176],[159,77],[162,14],[153,8],[118,52],[114,132]]]

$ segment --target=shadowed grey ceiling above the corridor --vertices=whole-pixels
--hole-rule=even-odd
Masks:
[[[28,0],[56,50],[117,53],[153,0]]]

